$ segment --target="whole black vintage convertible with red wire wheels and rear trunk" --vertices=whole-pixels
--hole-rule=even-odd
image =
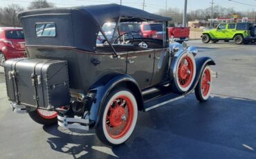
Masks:
[[[89,130],[109,145],[125,142],[138,111],[149,111],[195,91],[205,102],[212,88],[210,57],[170,44],[170,18],[108,4],[21,12],[28,58],[4,66],[13,111],[39,124]],[[120,23],[163,24],[163,39],[120,34]],[[115,23],[108,40],[102,30]],[[107,44],[96,44],[99,32]],[[129,36],[124,36],[129,34]],[[129,39],[127,39],[129,37]]]

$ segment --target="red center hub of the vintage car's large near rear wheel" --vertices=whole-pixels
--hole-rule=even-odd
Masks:
[[[117,106],[116,108],[114,108],[109,117],[111,126],[120,127],[120,125],[122,125],[122,122],[125,120],[127,120],[125,116],[125,109],[122,106]]]

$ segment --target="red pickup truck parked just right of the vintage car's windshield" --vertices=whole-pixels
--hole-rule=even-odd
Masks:
[[[174,40],[182,43],[188,41],[190,37],[190,28],[188,27],[169,27],[169,37],[174,37]]]

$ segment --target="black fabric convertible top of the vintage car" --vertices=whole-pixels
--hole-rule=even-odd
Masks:
[[[118,17],[121,22],[172,20],[118,4],[29,10],[18,16],[24,27],[26,45],[72,46],[89,51],[95,51],[98,32],[107,21],[116,21]],[[44,22],[55,23],[55,38],[44,37],[44,41],[36,37],[35,24]]]

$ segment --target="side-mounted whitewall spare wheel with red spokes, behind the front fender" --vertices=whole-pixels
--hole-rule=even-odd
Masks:
[[[191,54],[184,54],[179,59],[176,71],[176,84],[179,91],[188,91],[195,77],[195,62],[194,56]]]

